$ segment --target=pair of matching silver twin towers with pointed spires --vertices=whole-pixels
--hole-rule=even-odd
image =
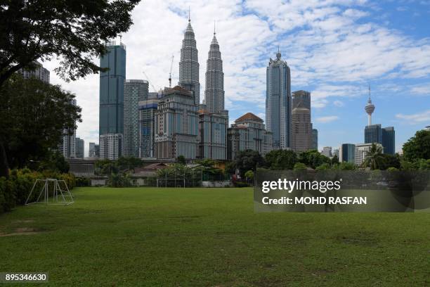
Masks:
[[[188,12],[188,26],[185,29],[181,48],[181,61],[179,62],[179,85],[192,91],[196,105],[200,104],[199,60],[195,42],[195,34],[191,27]],[[214,26],[206,70],[206,87],[204,89],[204,103],[210,113],[221,113],[224,110],[224,73],[221,51]]]

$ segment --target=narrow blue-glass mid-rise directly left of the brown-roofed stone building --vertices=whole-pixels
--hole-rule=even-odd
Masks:
[[[150,95],[146,101],[139,102],[139,157],[155,158],[155,113],[159,99]]]

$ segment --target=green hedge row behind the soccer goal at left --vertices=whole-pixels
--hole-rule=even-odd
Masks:
[[[0,213],[10,211],[15,205],[23,205],[32,190],[36,179],[63,179],[69,189],[75,186],[73,174],[58,174],[44,171],[34,172],[28,169],[12,170],[9,179],[0,177]],[[33,196],[37,194],[33,193]],[[34,200],[35,198],[30,198]]]

